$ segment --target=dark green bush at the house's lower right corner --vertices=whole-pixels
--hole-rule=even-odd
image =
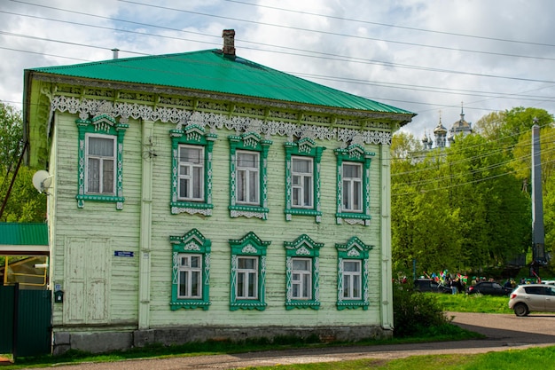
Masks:
[[[434,295],[415,292],[410,284],[395,284],[393,293],[396,337],[426,335],[450,322]]]

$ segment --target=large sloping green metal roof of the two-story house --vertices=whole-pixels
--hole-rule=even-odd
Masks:
[[[395,106],[312,83],[246,59],[224,56],[218,49],[30,70],[108,82],[141,83],[305,105],[415,115]]]

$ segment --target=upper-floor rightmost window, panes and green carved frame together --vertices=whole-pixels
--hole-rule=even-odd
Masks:
[[[375,153],[365,152],[353,144],[336,149],[337,155],[337,224],[370,225],[370,163]]]

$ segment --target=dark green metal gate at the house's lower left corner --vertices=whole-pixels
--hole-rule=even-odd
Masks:
[[[51,353],[50,290],[0,286],[0,353],[13,358]]]

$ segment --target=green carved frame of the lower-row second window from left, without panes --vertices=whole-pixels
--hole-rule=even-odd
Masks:
[[[231,297],[230,311],[266,309],[266,250],[271,241],[262,241],[254,232],[248,232],[242,239],[229,240],[231,246]],[[258,257],[258,291],[256,299],[238,299],[238,256]]]

